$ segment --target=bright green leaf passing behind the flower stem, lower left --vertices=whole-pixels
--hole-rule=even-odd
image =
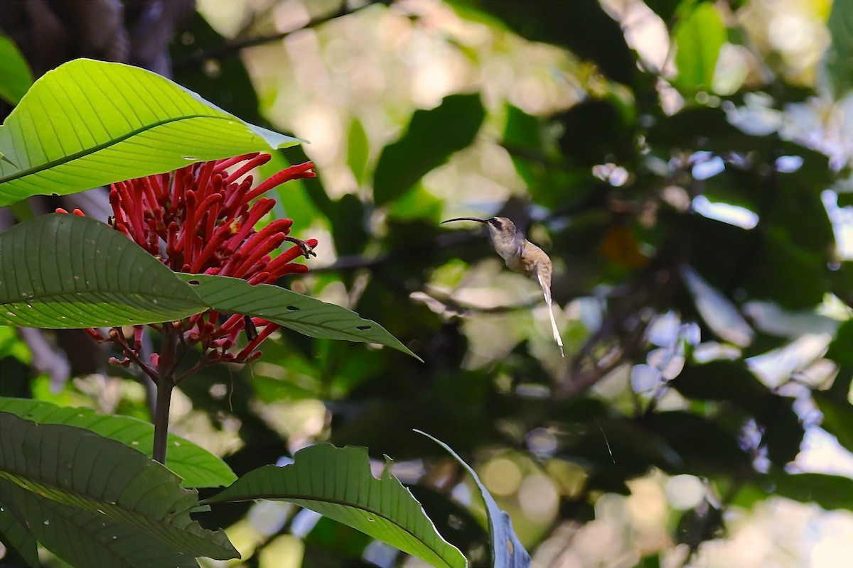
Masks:
[[[148,457],[154,447],[154,425],[131,416],[103,416],[88,408],[56,406],[32,399],[0,398],[0,411],[38,424],[81,427],[139,450]],[[166,463],[183,478],[184,487],[219,487],[237,476],[218,456],[174,434],[169,434]]]

